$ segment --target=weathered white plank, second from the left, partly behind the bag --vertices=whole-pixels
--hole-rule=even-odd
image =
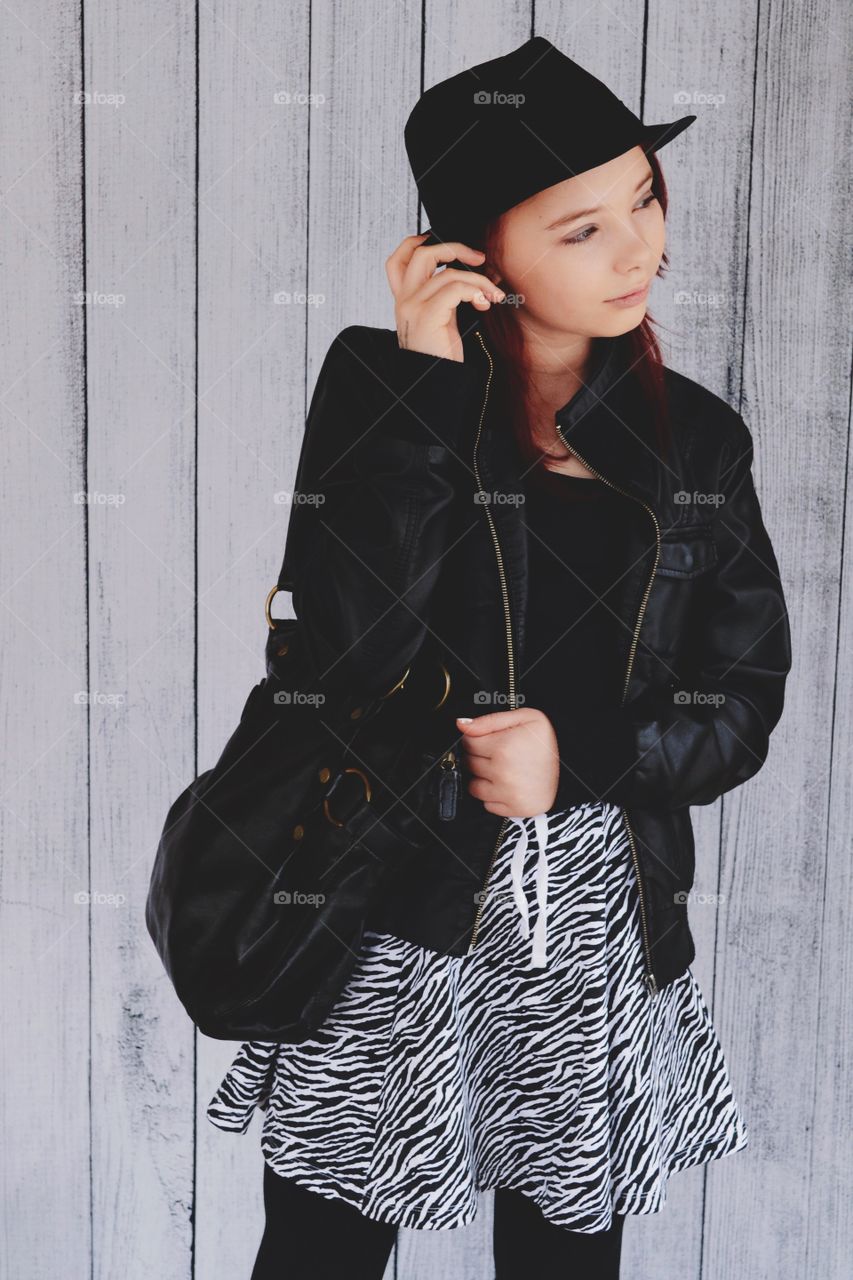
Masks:
[[[193,1029],[145,927],[165,810],[195,755],[195,23],[169,4],[86,5],[92,1275],[192,1261]],[[160,38],[159,38],[160,37]],[[60,1108],[55,1121],[63,1123]],[[73,1233],[69,1240],[73,1239]],[[61,1268],[60,1268],[61,1274]],[[87,1272],[88,1274],[88,1272]]]

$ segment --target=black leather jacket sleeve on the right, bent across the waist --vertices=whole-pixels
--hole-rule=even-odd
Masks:
[[[556,808],[589,800],[670,809],[711,804],[765,763],[792,652],[752,461],[752,435],[734,415],[721,449],[724,500],[711,526],[717,566],[692,632],[697,653],[689,677],[685,671],[669,687],[646,690],[585,723],[573,719],[570,708],[558,710]]]

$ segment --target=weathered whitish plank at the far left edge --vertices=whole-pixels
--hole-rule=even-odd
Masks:
[[[0,1272],[83,1280],[86,895],[105,887],[88,868],[87,753],[105,713],[86,663],[79,12],[46,9],[37,36],[12,10],[0,27]]]

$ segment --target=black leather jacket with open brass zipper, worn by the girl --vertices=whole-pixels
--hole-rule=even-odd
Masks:
[[[491,401],[497,357],[479,312],[462,303],[457,314],[462,362],[403,351],[393,329],[352,325],[334,338],[279,576],[318,675],[341,687],[384,692],[425,641],[437,646],[451,696],[433,742],[453,773],[462,768],[455,718],[517,705],[528,591],[524,467]],[[597,370],[557,424],[571,451],[646,513],[620,588],[622,700],[589,723],[573,722],[570,692],[555,691],[555,707],[542,710],[562,760],[555,808],[584,797],[622,808],[654,992],[695,955],[689,806],[711,804],[763,764],[790,630],[743,419],[667,369],[662,458],[625,343],[601,339],[597,351]],[[464,773],[453,792],[452,819],[437,812],[426,854],[391,874],[368,923],[459,956],[476,945],[507,819],[470,796]]]

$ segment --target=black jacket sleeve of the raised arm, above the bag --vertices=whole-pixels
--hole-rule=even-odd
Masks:
[[[447,550],[453,468],[483,371],[352,325],[323,361],[279,586],[315,677],[382,694],[418,653]]]

